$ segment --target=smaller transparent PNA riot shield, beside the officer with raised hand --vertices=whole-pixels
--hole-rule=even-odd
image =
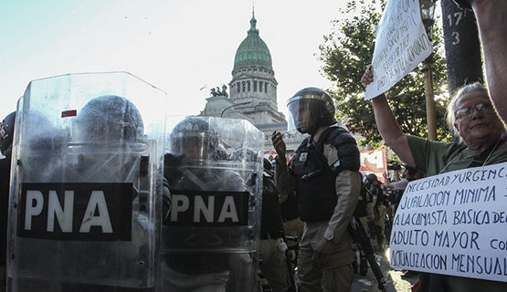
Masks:
[[[256,291],[263,134],[246,120],[168,118],[164,291]],[[251,153],[231,157],[244,149]]]

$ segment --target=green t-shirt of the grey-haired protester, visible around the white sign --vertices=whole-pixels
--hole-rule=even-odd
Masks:
[[[468,168],[472,159],[481,151],[470,151],[465,144],[428,141],[407,136],[408,146],[416,162],[416,168],[428,176]],[[485,165],[507,162],[507,147],[491,153]],[[443,276],[448,292],[507,291],[507,283],[461,276]]]

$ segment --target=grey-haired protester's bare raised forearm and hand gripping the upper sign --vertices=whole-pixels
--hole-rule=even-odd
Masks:
[[[364,87],[372,83],[374,74],[371,65],[366,68],[361,83]],[[393,114],[393,110],[387,103],[386,95],[381,94],[372,99],[375,112],[376,127],[380,131],[386,144],[395,151],[396,155],[410,166],[415,166],[412,151],[408,147],[407,136],[401,131]]]

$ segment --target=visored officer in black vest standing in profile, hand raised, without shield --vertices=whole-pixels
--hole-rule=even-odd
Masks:
[[[286,145],[275,131],[276,178],[281,193],[296,190],[306,227],[298,264],[299,290],[350,291],[354,279],[352,238],[347,232],[361,189],[359,150],[334,120],[333,99],[317,88],[287,101],[289,129],[309,137],[285,161]]]

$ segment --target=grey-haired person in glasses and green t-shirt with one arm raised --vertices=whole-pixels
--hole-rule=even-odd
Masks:
[[[374,79],[371,66],[366,68],[361,83],[364,87]],[[502,120],[491,105],[488,90],[480,83],[466,85],[450,99],[449,127],[459,135],[457,142],[428,141],[406,135],[399,128],[386,95],[372,99],[375,121],[384,141],[409,166],[428,176],[457,171],[471,166],[507,162],[507,143]],[[480,156],[482,161],[477,162]],[[476,159],[475,162],[474,158]],[[459,276],[421,274],[424,291],[507,291],[507,283]]]

